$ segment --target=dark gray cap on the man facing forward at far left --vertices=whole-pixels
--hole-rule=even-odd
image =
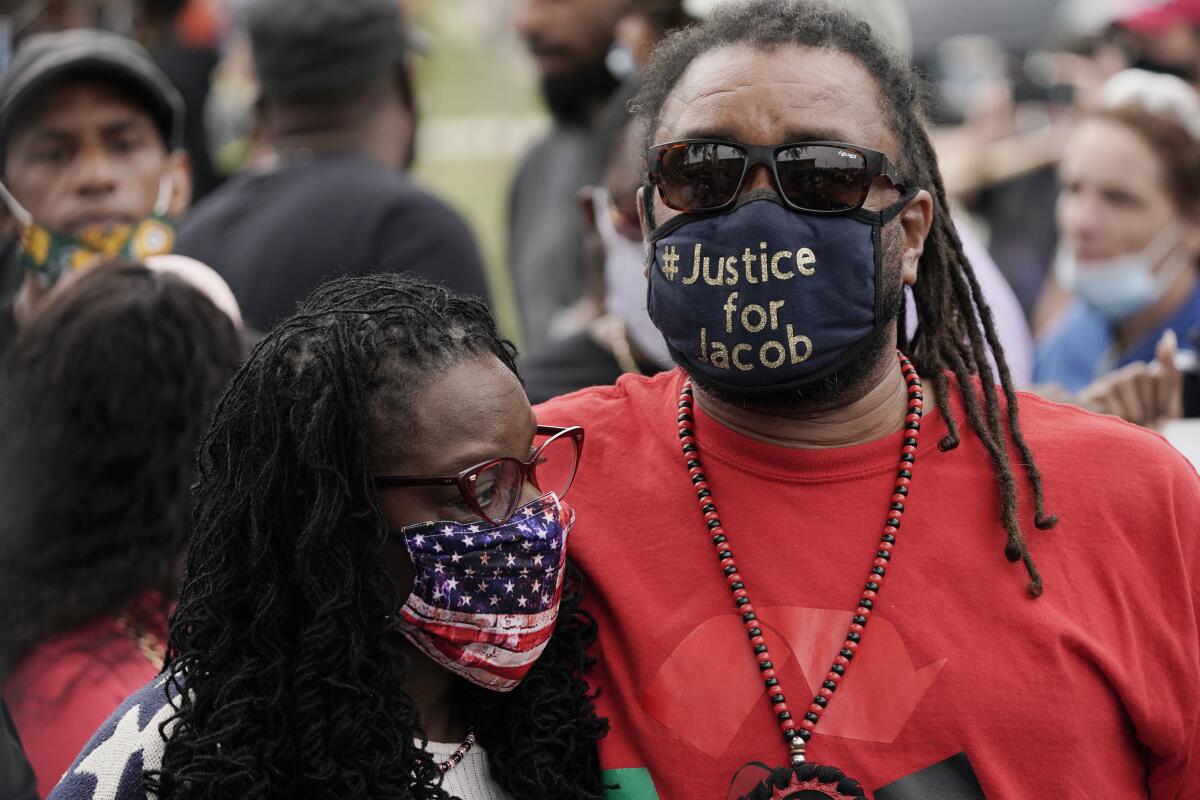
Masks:
[[[0,76],[0,164],[12,122],[30,101],[64,78],[108,79],[143,98],[168,150],[182,145],[184,98],[137,42],[79,29],[36,34],[20,43]]]

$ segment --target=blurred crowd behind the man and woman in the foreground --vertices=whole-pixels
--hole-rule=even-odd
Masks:
[[[338,0],[0,2],[0,435],[43,468],[0,465],[0,507],[22,507],[0,523],[0,674],[43,794],[161,662],[204,415],[322,279],[415,271],[485,295],[533,402],[672,366],[646,311],[629,103],[655,43],[715,1],[396,0],[386,31]],[[1200,0],[841,5],[932,79],[1016,383],[1139,425],[1196,414]],[[106,116],[130,109],[144,130]],[[84,275],[88,254],[138,264]],[[130,507],[156,522],[92,594],[85,553],[20,533]],[[88,609],[128,596],[131,675],[28,702]]]

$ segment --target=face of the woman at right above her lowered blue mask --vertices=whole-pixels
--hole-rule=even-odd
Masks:
[[[1058,170],[1058,230],[1081,266],[1140,253],[1172,223],[1181,248],[1200,251],[1195,224],[1182,218],[1162,163],[1134,130],[1085,120],[1072,134]],[[1187,235],[1190,234],[1190,235]]]

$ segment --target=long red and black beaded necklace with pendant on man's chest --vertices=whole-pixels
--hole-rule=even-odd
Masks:
[[[888,565],[892,560],[892,551],[895,548],[896,535],[900,533],[900,518],[904,516],[905,500],[908,497],[908,483],[912,481],[912,469],[917,461],[917,441],[920,433],[920,417],[925,404],[922,393],[920,377],[916,367],[902,353],[896,353],[900,359],[900,372],[908,387],[907,414],[904,423],[904,443],[900,451],[900,465],[896,473],[896,486],[892,493],[888,505],[887,519],[883,523],[883,535],[880,540],[878,549],[871,563],[870,573],[866,576],[866,585],[858,600],[858,607],[851,620],[846,640],[842,643],[838,655],[834,657],[829,672],[821,684],[821,690],[812,698],[804,718],[797,722],[788,709],[787,699],[779,675],[770,660],[767,649],[767,640],[762,636],[758,616],[750,602],[746,591],[745,579],[733,560],[733,551],[730,547],[728,534],[721,524],[721,518],[716,511],[716,500],[709,488],[703,467],[700,462],[700,445],[696,443],[696,434],[692,425],[692,387],[691,381],[684,381],[679,392],[679,443],[683,446],[684,461],[691,475],[691,482],[696,488],[696,499],[700,501],[700,510],[704,515],[704,524],[712,537],[716,558],[720,561],[722,577],[726,585],[733,594],[733,604],[738,614],[742,615],[742,624],[745,626],[750,638],[750,648],[754,651],[755,661],[758,663],[763,686],[770,700],[775,718],[779,720],[784,741],[787,744],[791,756],[791,766],[775,770],[767,778],[773,789],[772,794],[778,798],[791,795],[796,792],[809,790],[835,800],[851,800],[853,798],[865,798],[862,787],[848,778],[840,770],[811,764],[805,760],[805,744],[812,736],[812,730],[826,709],[834,698],[838,686],[845,679],[846,670],[854,661],[863,631],[870,620],[875,608],[875,599],[882,587],[883,577],[887,575]],[[768,795],[772,796],[772,795]]]

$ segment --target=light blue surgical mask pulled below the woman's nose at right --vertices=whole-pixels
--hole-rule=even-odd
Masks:
[[[1188,259],[1180,255],[1154,273],[1156,266],[1171,258],[1182,237],[1178,223],[1172,223],[1139,253],[1088,261],[1078,259],[1064,242],[1055,258],[1055,277],[1110,323],[1120,323],[1162,299],[1188,269]]]

